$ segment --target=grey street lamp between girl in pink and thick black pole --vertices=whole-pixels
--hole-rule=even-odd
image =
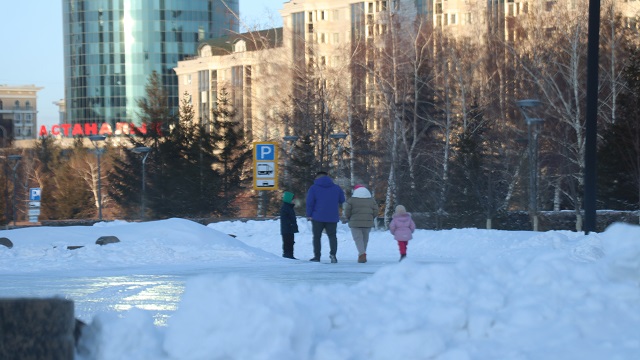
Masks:
[[[529,148],[529,216],[533,223],[533,231],[538,231],[538,129],[544,120],[535,117],[534,112],[540,101],[527,99],[516,101],[527,123]]]

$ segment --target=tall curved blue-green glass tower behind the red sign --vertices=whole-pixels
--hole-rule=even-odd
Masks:
[[[238,0],[63,0],[67,121],[139,124],[153,71],[177,112],[173,68],[200,41],[237,33],[238,10]]]

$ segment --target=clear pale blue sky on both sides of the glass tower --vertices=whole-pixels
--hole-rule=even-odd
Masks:
[[[35,85],[38,125],[59,121],[53,103],[64,98],[63,0],[7,1],[0,11],[0,84]],[[249,26],[281,26],[284,0],[239,0],[240,19]],[[280,23],[278,23],[280,22]]]

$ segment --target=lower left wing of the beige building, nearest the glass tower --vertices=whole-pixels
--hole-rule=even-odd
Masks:
[[[178,62],[179,94],[193,105],[195,119],[210,126],[218,102],[228,101],[249,139],[268,138],[264,125],[277,107],[269,99],[286,96],[273,83],[288,78],[280,69],[286,58],[282,44],[282,28],[225,36],[201,43],[197,56]]]

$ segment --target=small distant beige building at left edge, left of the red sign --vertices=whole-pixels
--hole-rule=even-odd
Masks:
[[[0,134],[3,147],[8,139],[37,137],[38,91],[35,85],[0,85]]]

